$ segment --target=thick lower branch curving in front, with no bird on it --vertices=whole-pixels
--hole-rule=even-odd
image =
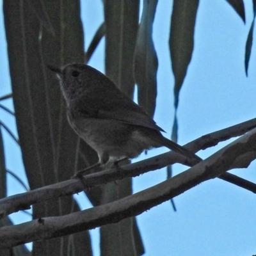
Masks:
[[[256,158],[255,152],[256,129],[233,141],[186,172],[179,173],[172,179],[134,195],[65,216],[49,217],[0,228],[0,248],[74,234],[141,214],[205,180],[218,177],[230,168],[236,168],[237,159],[241,157],[243,166],[248,166]],[[238,164],[241,166],[240,163]]]

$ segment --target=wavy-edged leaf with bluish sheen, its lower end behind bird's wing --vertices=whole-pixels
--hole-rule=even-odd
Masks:
[[[134,78],[138,85],[138,103],[154,116],[157,95],[157,55],[152,39],[157,0],[143,1],[143,12],[134,52]]]

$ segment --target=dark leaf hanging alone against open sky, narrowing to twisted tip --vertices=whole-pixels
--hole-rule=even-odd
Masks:
[[[170,54],[175,77],[175,108],[179,92],[191,61],[198,0],[174,0],[170,31]]]

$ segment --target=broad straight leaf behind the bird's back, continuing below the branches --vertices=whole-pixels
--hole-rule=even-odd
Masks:
[[[128,97],[133,97],[133,56],[138,31],[139,1],[104,1],[106,24],[105,68],[110,77]],[[116,106],[118,108],[118,106]],[[131,195],[132,180],[124,179],[101,187],[100,204]],[[143,243],[136,220],[127,218],[100,228],[102,255],[141,255]]]

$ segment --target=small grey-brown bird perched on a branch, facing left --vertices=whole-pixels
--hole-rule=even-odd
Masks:
[[[106,164],[111,158],[132,159],[143,150],[163,146],[202,161],[165,138],[161,134],[163,129],[95,68],[84,64],[48,67],[60,78],[69,124],[99,156],[99,162],[90,168]]]

